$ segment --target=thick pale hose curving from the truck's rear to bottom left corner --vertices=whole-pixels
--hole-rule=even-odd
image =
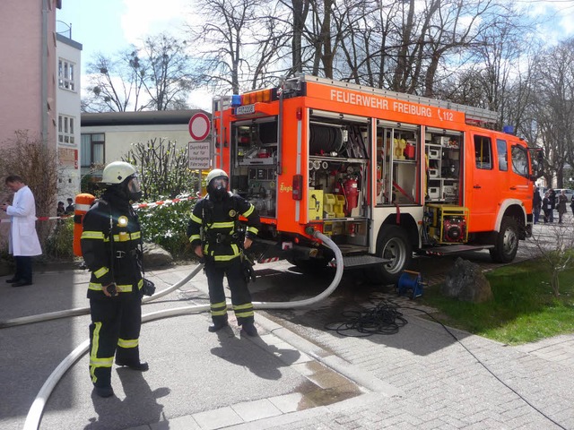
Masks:
[[[341,282],[341,278],[343,278],[343,254],[341,254],[341,250],[335,242],[333,242],[328,236],[325,236],[323,233],[315,230],[313,232],[313,236],[322,240],[329,248],[333,250],[335,253],[335,261],[336,261],[336,271],[335,271],[335,278],[331,281],[331,284],[323,291],[321,294],[307,298],[305,300],[297,300],[294,302],[253,302],[253,307],[255,309],[290,309],[292,307],[303,307],[308,305],[313,305],[321,300],[329,297],[333,291],[339,286],[339,282]],[[200,264],[203,266],[203,264]],[[199,271],[197,268],[195,271]],[[192,272],[193,273],[193,272]],[[196,273],[194,273],[195,276]],[[187,276],[187,278],[191,279],[193,276]],[[178,282],[178,284],[182,284],[182,280]],[[176,285],[178,285],[176,284]],[[173,288],[175,289],[175,288]],[[172,290],[173,290],[172,289]],[[167,294],[167,293],[166,293]],[[153,296],[152,296],[153,297]],[[228,303],[227,305],[231,305]],[[198,314],[201,312],[206,312],[210,308],[210,305],[194,305],[194,306],[183,306],[183,307],[176,307],[174,309],[166,309],[162,311],[152,312],[151,314],[144,314],[142,315],[142,323],[147,323],[149,321],[154,321],[161,318],[169,318],[171,316],[178,316],[178,315],[185,315],[185,314]],[[48,398],[54,387],[56,387],[59,380],[64,376],[64,374],[68,371],[68,369],[74,366],[74,363],[78,361],[86,352],[88,352],[88,348],[90,348],[90,340],[84,340],[83,343],[78,346],[77,348],[72,351],[64,360],[54,369],[54,372],[48,376],[48,379],[40,388],[36,399],[32,403],[30,410],[28,411],[28,415],[26,417],[26,421],[24,423],[23,430],[38,430],[39,429],[39,421],[44,413],[44,406],[48,402]]]

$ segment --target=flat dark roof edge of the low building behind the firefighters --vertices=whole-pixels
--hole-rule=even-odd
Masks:
[[[94,125],[187,124],[191,117],[199,112],[211,117],[211,114],[203,109],[144,110],[140,112],[83,113],[81,122],[83,127]]]

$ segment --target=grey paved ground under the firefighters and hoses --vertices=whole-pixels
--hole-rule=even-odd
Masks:
[[[552,229],[559,228],[536,226],[536,234],[552,243]],[[489,264],[483,254],[473,258]],[[431,267],[448,268],[448,259],[434,261]],[[422,262],[429,260],[416,263]],[[162,289],[192,269],[149,275]],[[286,263],[257,271],[259,301],[306,298],[330,282]],[[28,288],[0,285],[0,319],[83,307],[87,280],[85,271],[46,271]],[[144,313],[204,304],[205,290],[200,273]],[[405,307],[408,323],[396,334],[359,339],[325,330],[373,292]],[[242,339],[234,327],[208,333],[206,314],[146,323],[141,342],[149,372],[115,370],[117,397],[103,400],[91,393],[82,357],[58,383],[40,428],[574,428],[574,336],[509,347],[446,331],[407,307],[413,302],[397,299],[392,288],[348,275],[320,304],[257,312],[259,340]],[[22,428],[42,383],[86,339],[88,323],[84,315],[0,330],[1,428]]]

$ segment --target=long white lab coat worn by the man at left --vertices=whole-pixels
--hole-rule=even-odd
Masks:
[[[14,256],[42,254],[36,232],[36,202],[28,185],[14,193],[13,202],[6,209],[10,215],[8,251]]]

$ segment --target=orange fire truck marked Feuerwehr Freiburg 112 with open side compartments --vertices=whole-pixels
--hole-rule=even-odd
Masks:
[[[287,259],[396,282],[413,254],[490,250],[531,236],[542,160],[476,107],[301,75],[213,100],[213,168],[252,202],[257,261]]]

